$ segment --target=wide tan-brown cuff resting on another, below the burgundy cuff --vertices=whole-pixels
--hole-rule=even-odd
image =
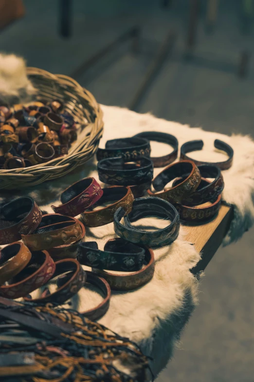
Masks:
[[[43,215],[38,228],[31,235],[22,235],[25,245],[32,251],[71,244],[80,240],[82,229],[77,219],[60,214]]]

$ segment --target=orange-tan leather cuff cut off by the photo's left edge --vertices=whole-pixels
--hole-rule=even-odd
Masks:
[[[0,250],[0,285],[16,276],[30,261],[31,252],[20,241]]]

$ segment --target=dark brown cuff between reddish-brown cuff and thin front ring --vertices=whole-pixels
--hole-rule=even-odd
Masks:
[[[56,285],[58,288],[55,292],[50,293],[49,289],[46,287],[40,297],[32,299],[31,296],[27,296],[24,300],[43,304],[48,302],[62,304],[71,299],[86,282],[86,272],[83,270],[80,263],[75,259],[56,261],[55,271],[51,281],[53,281],[57,276],[60,277],[56,279]]]

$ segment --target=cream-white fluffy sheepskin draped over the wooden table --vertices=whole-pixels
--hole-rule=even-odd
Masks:
[[[8,68],[5,64],[8,63]],[[27,97],[32,86],[24,74],[25,65],[22,59],[15,56],[0,56],[0,98]],[[22,89],[22,90],[20,90]],[[27,92],[24,90],[27,89]],[[150,114],[138,114],[115,106],[101,106],[104,112],[105,130],[100,147],[113,138],[130,137],[142,131],[161,131],[178,138],[179,145],[186,141],[202,139],[204,148],[192,153],[193,158],[204,161],[225,160],[225,154],[214,148],[214,140],[220,139],[229,143],[234,149],[234,161],[229,170],[223,171],[225,188],[223,200],[234,205],[234,219],[223,244],[239,239],[254,221],[254,142],[247,136],[225,136],[205,132],[200,127],[190,128],[178,122],[158,119]],[[161,156],[171,148],[152,142],[152,156]],[[155,169],[155,175],[161,169]],[[43,211],[53,212],[51,204],[59,204],[59,195],[63,189],[74,181],[87,176],[98,180],[96,162],[90,161],[78,168],[75,173],[36,188],[13,193],[0,192],[1,202],[9,198],[29,194],[40,205]],[[143,225],[163,227],[166,221],[143,219]],[[86,240],[96,240],[99,248],[109,238],[115,237],[113,224],[102,227],[87,228]],[[131,292],[113,292],[107,314],[100,322],[121,336],[137,342],[143,352],[152,358],[151,368],[155,376],[166,366],[174,346],[179,342],[181,331],[197,304],[198,281],[189,271],[199,260],[200,254],[192,243],[184,240],[184,227],[181,227],[179,238],[170,246],[156,249],[155,274],[153,279],[143,287]],[[101,297],[94,290],[82,289],[70,302],[80,311],[89,309]],[[68,305],[70,306],[70,305]]]

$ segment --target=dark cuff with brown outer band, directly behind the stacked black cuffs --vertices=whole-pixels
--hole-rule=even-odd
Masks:
[[[151,157],[150,160],[153,162],[154,167],[165,167],[177,159],[178,154],[178,140],[171,134],[160,133],[157,131],[145,131],[144,133],[139,133],[134,135],[134,137],[146,138],[148,141],[155,141],[169,144],[173,147],[173,151],[164,155],[163,157]]]

